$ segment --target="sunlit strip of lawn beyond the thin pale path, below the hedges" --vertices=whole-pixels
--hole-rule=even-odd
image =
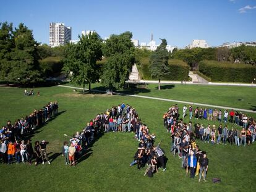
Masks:
[[[106,90],[99,83],[93,84],[92,88]],[[158,84],[149,84],[147,89],[121,90],[121,92],[256,110],[256,87],[163,84],[161,89],[161,91],[158,90]]]

